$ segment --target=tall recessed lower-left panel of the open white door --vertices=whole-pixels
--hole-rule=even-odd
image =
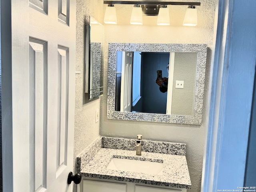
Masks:
[[[46,187],[46,42],[30,38],[30,191]]]

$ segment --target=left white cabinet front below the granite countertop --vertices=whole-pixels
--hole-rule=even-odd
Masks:
[[[83,180],[83,192],[126,192],[126,184]]]

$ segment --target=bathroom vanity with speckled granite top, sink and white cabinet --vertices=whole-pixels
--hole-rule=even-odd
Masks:
[[[186,192],[186,144],[100,137],[76,159],[80,192]],[[113,162],[114,161],[114,162]]]

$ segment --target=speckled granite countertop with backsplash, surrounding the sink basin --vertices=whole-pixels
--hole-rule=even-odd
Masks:
[[[88,149],[86,149],[84,153],[80,154],[80,156],[77,158],[78,172],[80,172],[82,176],[91,178],[102,178],[176,188],[191,188],[191,181],[185,153],[183,153],[183,150],[181,150],[181,154],[175,154],[177,153],[177,150],[180,151],[180,149],[184,149],[184,146],[186,147],[185,144],[145,141],[145,145],[146,142],[148,142],[148,144],[150,144],[153,148],[156,146],[158,146],[158,148],[162,148],[163,150],[166,150],[166,148],[174,148],[175,152],[172,150],[160,150],[160,153],[155,153],[154,150],[153,152],[145,152],[145,150],[142,150],[142,155],[136,156],[135,150],[131,150],[130,148],[125,150],[127,149],[125,145],[127,143],[134,144],[135,140],[120,138],[117,139],[118,145],[120,145],[120,142],[123,142],[121,145],[122,149],[118,149],[116,146],[112,146],[113,144],[110,144],[115,143],[113,142],[115,138],[104,137],[96,140]],[[108,148],[104,148],[106,146],[108,146]],[[162,174],[151,175],[138,172],[107,169],[108,163],[112,158],[163,162],[163,171]]]

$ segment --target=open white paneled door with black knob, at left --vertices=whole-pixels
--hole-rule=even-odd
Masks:
[[[9,63],[2,63],[2,103],[12,108],[8,116],[8,107],[2,111],[3,190],[71,192],[76,0],[6,2],[1,2],[1,14],[11,15],[6,14],[1,29],[11,37],[11,54]],[[8,49],[5,37],[3,52]]]

